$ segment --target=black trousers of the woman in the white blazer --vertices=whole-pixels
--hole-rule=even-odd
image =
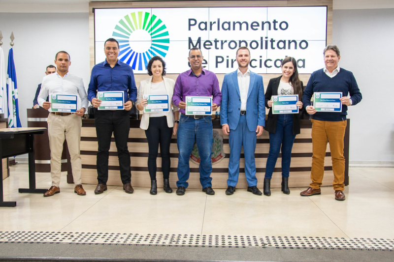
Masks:
[[[169,158],[169,146],[171,144],[172,127],[167,125],[167,117],[150,117],[148,129],[145,130],[148,139],[148,171],[152,180],[156,179],[156,159],[159,151],[162,157],[163,178],[168,179],[171,160]]]

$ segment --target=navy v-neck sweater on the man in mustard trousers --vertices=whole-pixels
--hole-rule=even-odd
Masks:
[[[305,108],[311,105],[311,98],[314,92],[342,92],[342,96],[350,94],[352,106],[357,105],[362,99],[353,73],[343,68],[340,68],[338,74],[333,78],[330,78],[324,72],[324,69],[317,70],[311,74],[302,95],[302,103]],[[342,112],[316,112],[311,116],[312,119],[321,121],[343,121],[346,120],[347,110],[348,107],[342,105]]]

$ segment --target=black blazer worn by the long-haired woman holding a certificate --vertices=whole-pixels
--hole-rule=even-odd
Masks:
[[[268,107],[268,101],[271,100],[271,96],[278,95],[278,87],[281,77],[282,76],[270,79],[267,90],[265,91],[265,107],[269,108],[268,118],[265,121],[265,130],[273,134],[276,133],[276,121],[278,119],[278,115],[272,114],[272,108]],[[303,87],[302,81],[301,81],[301,86]],[[298,99],[301,99],[301,97],[298,97]],[[301,113],[301,110],[299,112]],[[293,114],[293,135],[298,135],[301,132],[301,127],[299,123],[300,113]]]

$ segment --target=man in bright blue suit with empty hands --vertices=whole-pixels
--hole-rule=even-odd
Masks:
[[[263,77],[249,71],[250,52],[240,47],[236,53],[238,69],[226,74],[222,85],[220,121],[229,135],[230,160],[227,195],[232,195],[238,182],[241,149],[245,155],[245,176],[248,192],[262,195],[257,188],[255,150],[257,137],[265,126]]]

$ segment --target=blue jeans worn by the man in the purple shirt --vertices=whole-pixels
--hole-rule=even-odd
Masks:
[[[212,118],[206,116],[195,119],[190,116],[182,115],[179,118],[178,134],[176,137],[178,145],[178,187],[188,187],[187,180],[190,175],[189,160],[192,154],[194,143],[197,143],[198,154],[200,157],[200,183],[202,188],[212,186],[211,152],[212,152]]]

